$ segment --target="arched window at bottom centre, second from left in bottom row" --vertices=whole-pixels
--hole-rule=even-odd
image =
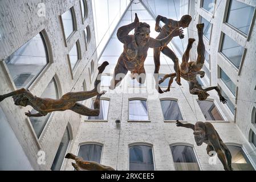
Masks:
[[[132,146],[129,148],[130,171],[154,171],[152,147]]]

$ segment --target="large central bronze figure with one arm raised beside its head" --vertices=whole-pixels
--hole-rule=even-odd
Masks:
[[[134,35],[128,35],[134,28]],[[118,29],[117,38],[124,44],[124,51],[115,67],[110,89],[115,89],[128,71],[131,71],[133,79],[136,78],[140,84],[143,84],[145,82],[144,61],[147,57],[148,48],[165,46],[174,36],[183,35],[183,31],[179,28],[169,32],[164,39],[160,40],[151,38],[149,33],[149,24],[139,22],[136,13],[133,23]]]

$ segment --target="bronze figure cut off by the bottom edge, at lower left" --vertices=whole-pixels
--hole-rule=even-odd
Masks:
[[[67,159],[73,159],[76,163],[72,163],[72,166],[77,171],[115,171],[112,167],[104,166],[102,164],[96,163],[94,161],[86,161],[83,160],[83,158],[80,158],[79,156],[76,156],[74,154],[68,153],[65,158]]]

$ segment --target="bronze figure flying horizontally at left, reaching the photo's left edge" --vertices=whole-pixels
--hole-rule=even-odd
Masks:
[[[94,82],[95,88],[87,92],[68,92],[64,94],[60,99],[52,98],[40,98],[34,96],[29,90],[25,88],[15,90],[7,94],[0,95],[0,102],[7,97],[13,96],[14,104],[26,107],[32,106],[38,113],[31,114],[30,111],[25,113],[28,117],[42,117],[52,111],[64,111],[72,110],[75,113],[87,116],[97,116],[100,113],[100,96],[105,92],[98,93],[97,86],[99,88],[100,76],[107,67],[108,62],[104,61],[98,69],[99,73],[97,79]],[[79,101],[87,100],[88,98],[96,97],[94,102],[94,109],[90,109],[80,103]]]

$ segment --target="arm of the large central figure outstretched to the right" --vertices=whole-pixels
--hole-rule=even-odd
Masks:
[[[149,38],[149,47],[162,47],[166,46],[172,38],[175,36],[183,35],[183,30],[175,28],[168,36],[166,36],[164,39],[153,39]]]

